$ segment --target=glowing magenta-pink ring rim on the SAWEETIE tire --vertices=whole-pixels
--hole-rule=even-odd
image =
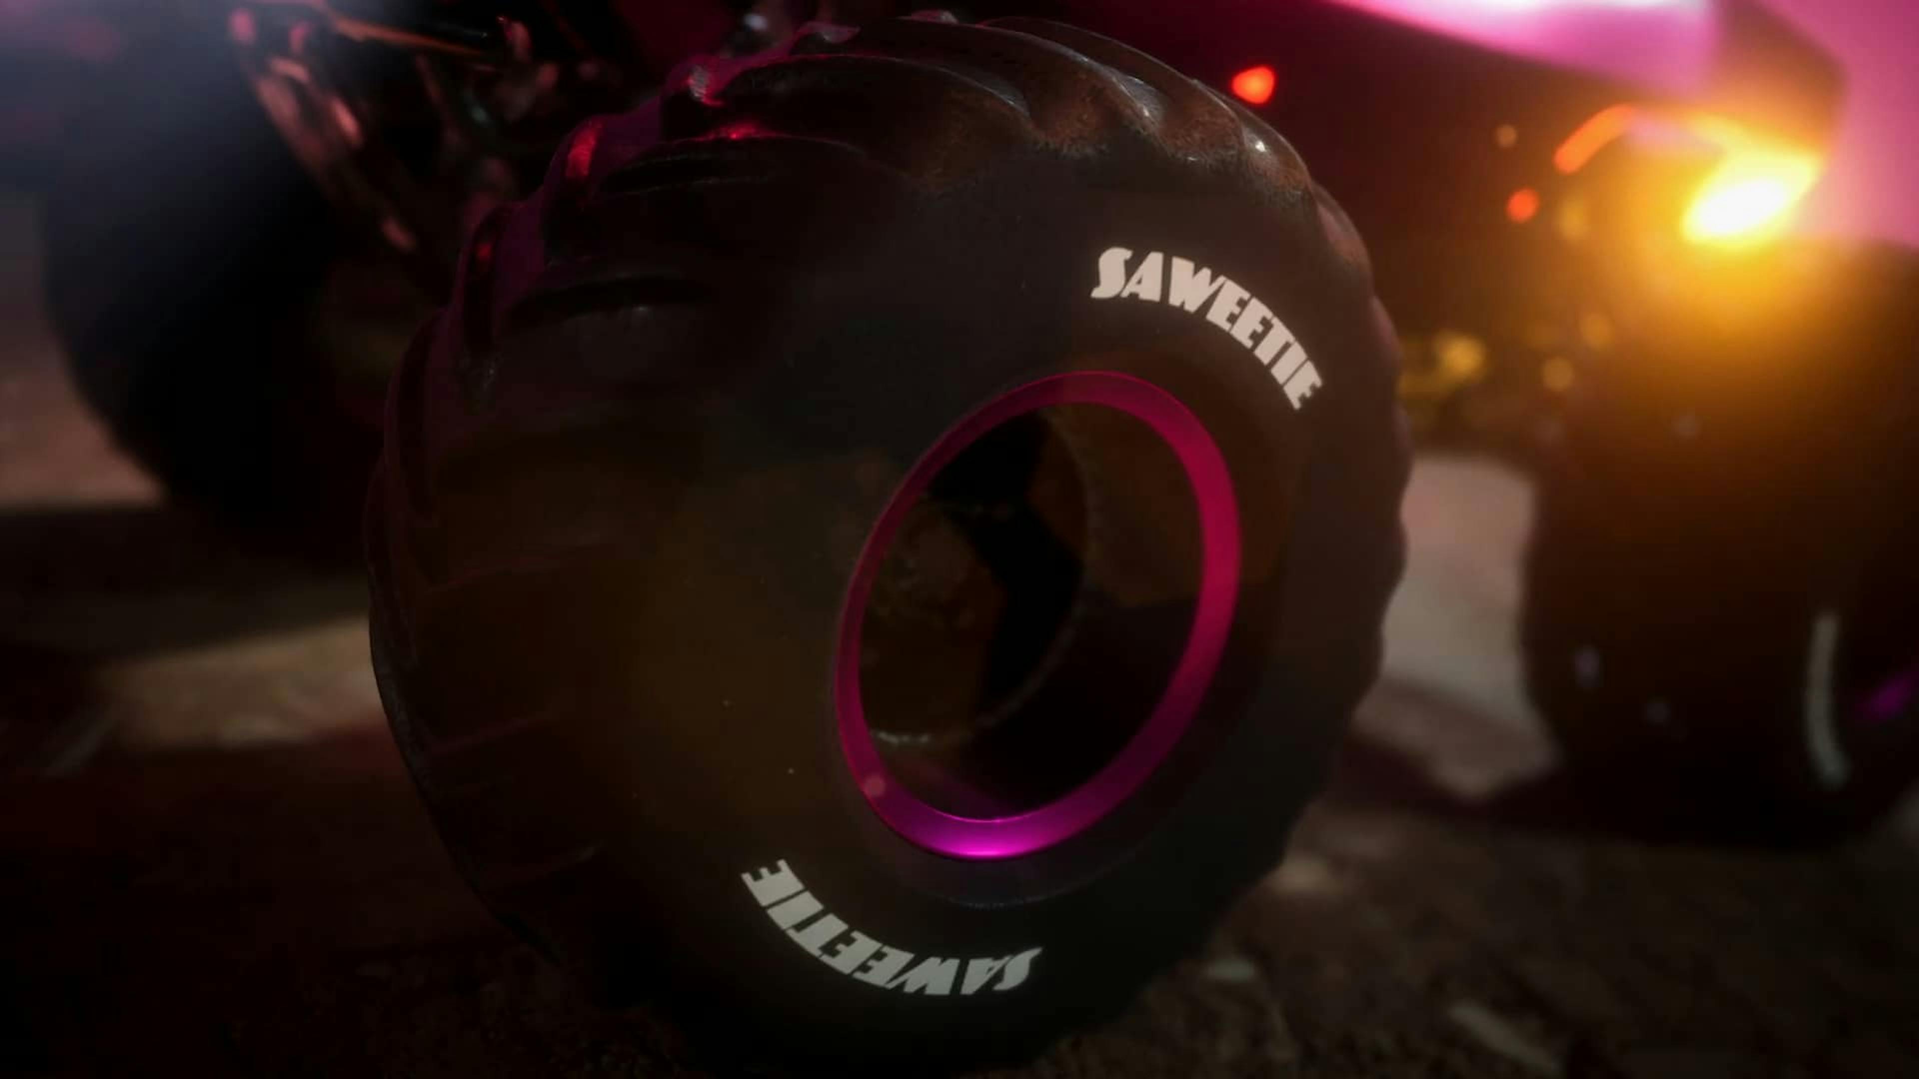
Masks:
[[[860,703],[860,624],[879,572],[881,555],[933,476],[969,444],[994,426],[1048,405],[1105,405],[1144,420],[1159,434],[1186,468],[1199,513],[1205,551],[1199,564],[1199,601],[1167,691],[1138,733],[1092,779],[1061,799],[1019,816],[967,818],[933,808],[896,783],[887,772],[865,726]],[[979,407],[913,465],[887,509],[873,524],[860,564],[841,609],[839,655],[833,693],[839,707],[841,747],[860,791],[873,810],[906,839],[954,858],[1015,858],[1059,843],[1086,829],[1132,795],[1165,760],[1192,722],[1199,699],[1213,682],[1219,657],[1232,626],[1240,589],[1240,503],[1232,493],[1226,459],[1192,411],[1151,382],[1111,371],[1078,371],[1029,382]]]

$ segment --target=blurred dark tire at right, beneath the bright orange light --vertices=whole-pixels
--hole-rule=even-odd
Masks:
[[[1790,309],[1673,321],[1539,474],[1528,689],[1627,827],[1819,843],[1919,778],[1919,259],[1789,250]]]

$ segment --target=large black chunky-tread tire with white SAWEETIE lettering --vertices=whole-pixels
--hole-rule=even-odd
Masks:
[[[1094,298],[1115,246],[1240,282],[1322,386],[1295,409],[1205,309]],[[1086,371],[1217,444],[1242,551],[1219,668],[1113,812],[1021,856],[940,854],[848,766],[841,611],[942,432]],[[904,19],[693,65],[482,225],[391,386],[367,543],[395,737],[466,879],[612,998],[651,985],[735,1044],[837,1058],[1032,1052],[1199,943],[1318,791],[1401,568],[1395,374],[1364,250],[1293,152],[1138,52]],[[1146,513],[1088,526],[1105,551],[1157,536],[1155,505],[1192,513],[1153,501],[1144,449],[1103,465],[1126,482],[1082,463],[1111,503],[1086,513]],[[1113,611],[1075,611],[1038,697],[1088,664],[1153,678],[1149,630],[1134,655],[1100,635]],[[1128,701],[1088,693],[1004,726],[1057,724],[1032,760],[1098,741]],[[881,987],[821,962],[862,941],[956,966]]]

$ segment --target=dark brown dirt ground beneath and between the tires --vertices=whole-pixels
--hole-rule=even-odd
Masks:
[[[1585,820],[1518,695],[1528,513],[1518,476],[1420,463],[1387,676],[1290,858],[1019,1075],[1919,1075],[1913,808],[1825,852]],[[71,720],[56,776],[0,779],[0,1073],[712,1071],[461,885],[361,605],[159,503],[0,204],[0,724]]]

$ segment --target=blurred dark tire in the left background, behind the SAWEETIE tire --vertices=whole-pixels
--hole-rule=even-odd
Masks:
[[[140,38],[42,192],[46,292],[73,380],[169,495],[349,553],[378,376],[340,376],[334,215],[217,25]],[[370,390],[370,392],[368,392]]]

